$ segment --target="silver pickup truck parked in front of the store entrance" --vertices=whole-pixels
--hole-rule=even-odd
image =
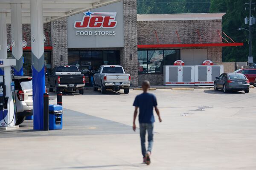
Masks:
[[[92,71],[93,75],[93,90],[104,94],[107,89],[119,91],[124,89],[125,94],[129,93],[131,82],[130,74],[125,74],[124,69],[120,65],[102,65],[98,71]]]

